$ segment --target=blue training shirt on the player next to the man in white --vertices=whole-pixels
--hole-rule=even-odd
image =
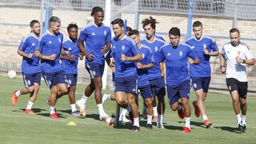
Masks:
[[[198,65],[190,65],[189,72],[191,77],[210,77],[210,55],[206,55],[203,50],[207,49],[208,52],[218,51],[218,46],[213,38],[202,36],[200,40],[197,40],[193,37],[186,40],[186,43],[193,48],[200,60]]]

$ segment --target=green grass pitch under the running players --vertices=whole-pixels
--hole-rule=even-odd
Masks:
[[[33,106],[36,115],[30,115],[23,113],[28,95],[21,96],[17,106],[11,106],[12,92],[23,87],[22,79],[0,77],[0,143],[255,143],[256,99],[253,97],[247,98],[248,128],[242,134],[236,130],[236,117],[231,98],[224,94],[208,94],[206,109],[208,117],[213,122],[211,128],[204,128],[202,118],[194,116],[193,105],[190,104],[192,132],[181,133],[184,120],[179,119],[176,111],[171,111],[166,102],[166,129],[154,127],[148,131],[145,128],[146,121],[142,118],[141,131],[133,133],[129,130],[131,125],[128,123],[113,128],[99,121],[93,95],[87,101],[86,118],[71,116],[68,96],[63,96],[56,105],[60,120],[50,120],[49,107],[45,102],[50,92],[43,80],[41,83],[38,99]],[[78,84],[78,99],[84,89],[85,84]],[[193,99],[195,95],[191,92],[191,100]],[[142,106],[142,99],[139,99],[139,103]],[[109,115],[115,111],[114,101],[107,101],[104,107]],[[68,126],[67,123],[70,121],[77,123],[77,126]],[[156,126],[155,122],[153,124]]]

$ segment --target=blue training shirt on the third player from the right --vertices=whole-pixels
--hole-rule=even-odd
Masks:
[[[189,80],[188,57],[191,57],[193,60],[196,59],[196,55],[189,45],[179,43],[174,48],[171,43],[167,43],[161,47],[160,59],[166,65],[167,85],[173,86]]]

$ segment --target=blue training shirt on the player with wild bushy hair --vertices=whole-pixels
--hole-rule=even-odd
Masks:
[[[151,49],[152,55],[155,60],[154,67],[152,67],[151,69],[148,70],[149,80],[158,79],[159,77],[161,77],[161,72],[159,69],[159,62],[160,62],[159,50],[160,50],[161,46],[164,45],[164,41],[155,37],[154,42],[149,43],[149,41],[146,40],[146,37],[145,37],[145,38],[142,38],[141,43],[143,45],[148,46]]]

